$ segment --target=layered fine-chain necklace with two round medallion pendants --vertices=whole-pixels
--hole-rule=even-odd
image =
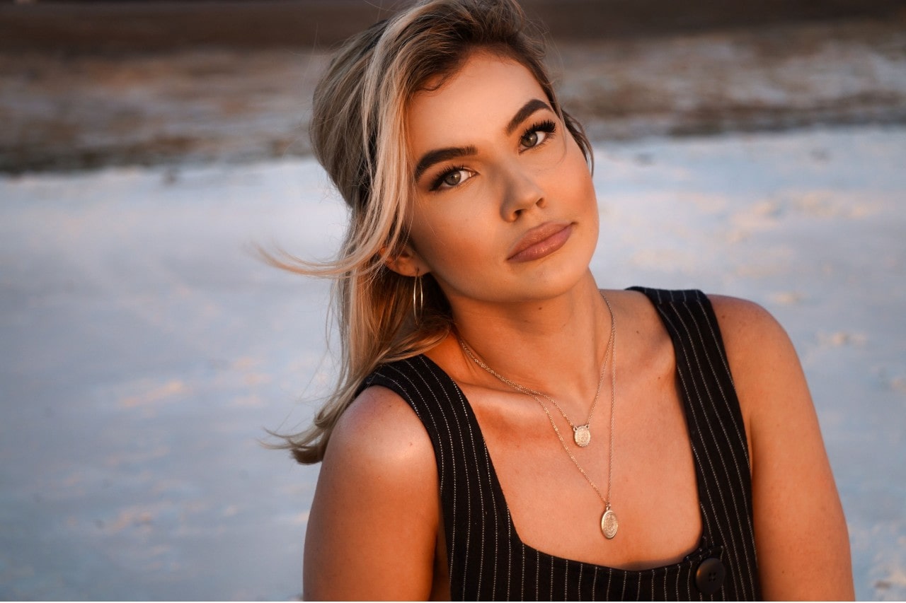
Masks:
[[[477,356],[474,353],[472,353],[472,350],[468,347],[465,340],[463,340],[461,337],[458,337],[457,339],[459,340],[459,347],[461,347],[462,350],[468,356],[468,358],[472,359],[472,361],[475,362],[481,369],[485,369],[488,373],[490,373],[491,375],[493,375],[494,377],[496,377],[503,383],[506,383],[507,386],[515,389],[519,393],[522,393],[529,397],[534,398],[535,402],[537,402],[538,405],[545,411],[547,420],[550,421],[551,426],[554,427],[554,434],[556,434],[557,439],[560,440],[560,445],[563,446],[564,451],[566,452],[567,455],[569,455],[570,460],[573,461],[573,464],[575,465],[576,469],[578,469],[579,473],[583,475],[583,477],[585,478],[585,481],[587,481],[592,486],[594,492],[598,494],[598,497],[601,499],[601,502],[604,504],[604,512],[601,516],[601,531],[607,540],[611,540],[614,536],[617,535],[617,529],[620,527],[619,522],[617,522],[616,513],[614,513],[611,509],[611,484],[612,484],[612,475],[613,475],[613,417],[614,417],[613,411],[614,411],[614,407],[616,406],[616,387],[617,387],[616,386],[616,383],[617,383],[617,342],[616,342],[617,323],[616,323],[616,318],[614,317],[614,314],[613,314],[613,308],[611,306],[610,300],[607,299],[607,296],[604,295],[603,292],[601,293],[601,297],[603,298],[604,303],[607,304],[607,311],[609,311],[611,314],[611,336],[610,336],[610,339],[607,340],[607,349],[604,350],[604,361],[601,366],[601,374],[598,377],[598,388],[594,392],[594,400],[592,402],[592,408],[588,413],[588,418],[585,421],[585,425],[580,425],[580,426],[573,425],[573,422],[570,421],[569,417],[566,416],[566,413],[564,413],[564,409],[561,408],[560,405],[556,403],[556,401],[554,401],[553,397],[550,397],[543,392],[536,391],[535,389],[526,388],[525,386],[519,385],[515,381],[504,377],[500,373],[496,372],[496,370],[488,367],[484,361],[482,361],[481,359],[478,359]],[[601,489],[598,488],[597,484],[595,484],[593,482],[593,480],[589,476],[589,474],[585,473],[585,470],[583,469],[582,465],[579,464],[578,460],[576,460],[575,455],[573,455],[573,452],[569,449],[569,445],[566,444],[566,440],[564,440],[564,436],[561,435],[560,429],[557,427],[556,421],[554,421],[554,416],[551,415],[551,412],[547,409],[547,406],[545,405],[544,401],[541,398],[544,397],[549,402],[551,402],[554,405],[554,407],[556,407],[556,409],[560,411],[560,414],[564,417],[566,423],[568,423],[569,426],[573,427],[573,441],[575,442],[575,445],[578,445],[580,447],[585,447],[585,446],[589,445],[589,443],[592,441],[591,423],[592,423],[592,416],[594,414],[594,407],[596,407],[598,404],[598,397],[601,394],[601,385],[603,382],[605,369],[607,368],[607,359],[609,357],[611,357],[611,433],[610,433],[610,447],[609,447],[608,457],[607,457],[607,496],[604,496],[604,494],[601,492]]]

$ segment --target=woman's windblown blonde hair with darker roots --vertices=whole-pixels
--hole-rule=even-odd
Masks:
[[[334,279],[341,367],[333,395],[313,426],[285,436],[280,446],[291,449],[300,463],[322,460],[333,426],[374,369],[427,351],[448,335],[448,303],[431,275],[416,277],[424,288],[416,318],[416,283],[386,262],[408,235],[413,178],[407,104],[429,82],[456,72],[478,48],[534,74],[591,165],[591,146],[581,126],[556,101],[543,63],[542,36],[516,0],[423,0],[342,45],[315,88],[310,126],[314,155],[349,206],[342,249],[331,263],[267,255],[284,269]]]

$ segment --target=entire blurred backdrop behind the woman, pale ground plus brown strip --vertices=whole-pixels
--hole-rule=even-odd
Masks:
[[[857,596],[906,598],[906,5],[522,4],[595,147],[599,283],[778,317]],[[0,598],[299,596],[317,467],[259,440],[330,387],[329,283],[250,249],[336,248],[313,85],[394,7],[0,2]]]

